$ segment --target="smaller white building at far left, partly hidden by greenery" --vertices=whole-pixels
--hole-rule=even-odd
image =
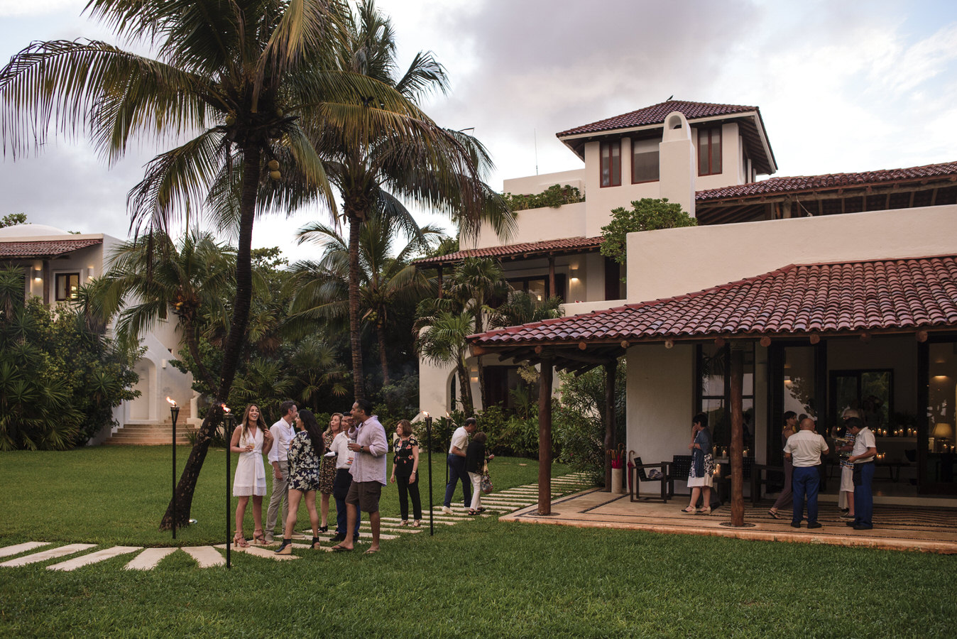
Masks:
[[[45,303],[56,305],[73,299],[80,285],[102,275],[110,251],[121,241],[104,233],[75,234],[42,224],[21,224],[0,229],[0,262],[22,268],[26,298],[40,297]],[[181,407],[181,427],[193,421],[199,423],[189,419],[197,414],[192,376],[168,364],[177,357],[180,343],[176,322],[160,320],[142,343],[146,351],[135,366],[140,376],[135,389],[142,394],[114,408],[113,417],[119,427],[112,432],[104,429],[91,444],[101,443],[114,434],[114,441],[169,443],[170,434],[162,426],[170,421],[167,396]],[[127,426],[133,428],[122,432]],[[130,438],[130,430],[141,431],[139,437]],[[180,442],[185,441],[185,431],[181,428],[177,432]]]

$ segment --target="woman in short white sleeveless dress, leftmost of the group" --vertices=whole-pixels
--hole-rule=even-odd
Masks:
[[[273,448],[273,435],[266,428],[259,407],[251,404],[242,415],[242,422],[233,431],[230,451],[239,453],[239,462],[233,475],[233,495],[239,497],[236,504],[236,534],[233,542],[237,547],[246,548],[249,543],[242,534],[242,521],[246,517],[246,504],[253,497],[253,543],[265,544],[262,533],[262,496],[266,494],[266,467],[262,455]]]

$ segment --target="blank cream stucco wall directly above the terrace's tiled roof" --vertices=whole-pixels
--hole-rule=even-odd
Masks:
[[[683,295],[789,264],[955,252],[954,205],[631,233],[628,301]]]

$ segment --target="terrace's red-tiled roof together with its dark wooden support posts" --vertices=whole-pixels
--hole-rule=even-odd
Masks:
[[[726,344],[730,351],[731,499],[725,513],[732,526],[740,527],[746,514],[742,402],[746,346],[760,343],[767,348],[774,342],[816,346],[832,341],[860,345],[909,339],[916,350],[914,358],[926,361],[927,344],[953,342],[955,331],[957,256],[946,254],[790,265],[696,293],[488,331],[469,341],[474,355],[496,354],[541,364],[539,516],[549,515],[552,508],[553,369],[580,373],[603,366],[606,393],[612,399],[618,357],[631,358],[639,349],[672,349],[677,344]],[[629,366],[630,378],[632,374]],[[632,389],[630,385],[630,405]],[[925,394],[920,401],[926,405]],[[617,444],[612,439],[614,414],[609,413],[606,449]],[[826,429],[823,411],[821,418]],[[919,423],[918,431],[918,441],[929,436],[926,420]],[[629,447],[636,448],[631,442]],[[918,464],[926,464],[927,448],[917,446],[917,452]],[[606,459],[606,477],[610,484],[610,459]]]

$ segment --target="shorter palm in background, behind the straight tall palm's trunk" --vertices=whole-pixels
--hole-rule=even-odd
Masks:
[[[442,232],[428,225],[416,227],[412,239],[392,256],[396,244],[388,215],[374,214],[362,225],[359,238],[359,310],[362,320],[374,327],[379,344],[379,364],[384,386],[391,384],[386,349],[386,329],[392,309],[403,302],[416,303],[434,292],[434,283],[412,265],[412,259],[428,250]],[[319,261],[293,265],[291,280],[296,290],[292,323],[323,319],[335,324],[347,315],[350,304],[350,254],[347,240],[334,229],[313,223],[300,229],[300,243],[324,247]]]

